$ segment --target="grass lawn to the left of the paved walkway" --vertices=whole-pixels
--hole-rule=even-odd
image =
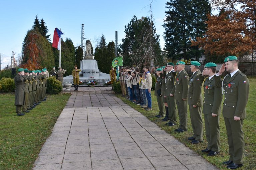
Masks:
[[[33,168],[44,142],[70,94],[48,98],[24,116],[16,116],[14,93],[0,93],[0,169]]]

